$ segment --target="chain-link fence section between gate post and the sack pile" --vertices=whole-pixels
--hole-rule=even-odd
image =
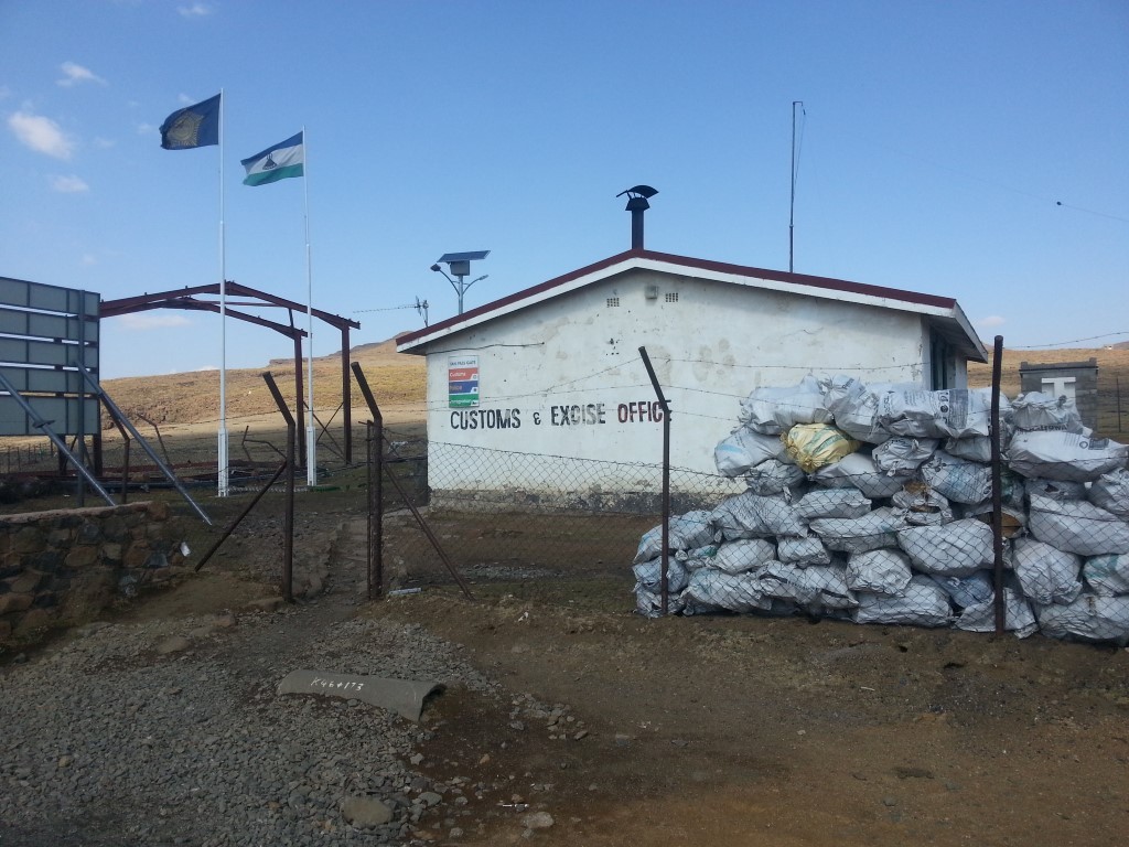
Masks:
[[[428,523],[467,578],[618,574],[625,579],[624,600],[630,602],[624,564],[634,556],[639,535],[662,516],[662,465],[397,439],[395,434],[384,462],[415,505],[428,507]],[[634,481],[631,490],[604,491],[594,482],[624,474]],[[684,489],[693,488],[693,477],[681,474]],[[479,484],[469,487],[467,479]],[[732,487],[718,478],[708,482]],[[684,494],[674,503],[689,508],[701,497]],[[422,539],[413,517],[397,513],[396,504],[385,499],[388,586],[446,582],[438,553]]]

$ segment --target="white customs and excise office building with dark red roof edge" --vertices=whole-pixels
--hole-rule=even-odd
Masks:
[[[948,297],[632,248],[397,339],[427,357],[434,496],[655,495],[663,413],[640,347],[671,402],[671,464],[702,474],[675,486],[699,492],[735,490],[714,447],[755,387],[961,388],[987,361]]]

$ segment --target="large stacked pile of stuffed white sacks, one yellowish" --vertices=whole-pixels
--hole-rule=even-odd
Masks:
[[[673,517],[667,612],[803,612],[995,630],[989,390],[805,377],[758,388],[715,449],[747,490]],[[1006,626],[1129,643],[1129,449],[1073,402],[1000,398]],[[634,559],[662,614],[662,533]]]

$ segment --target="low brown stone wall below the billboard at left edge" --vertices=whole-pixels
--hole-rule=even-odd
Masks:
[[[89,619],[183,564],[168,506],[0,516],[0,641]]]

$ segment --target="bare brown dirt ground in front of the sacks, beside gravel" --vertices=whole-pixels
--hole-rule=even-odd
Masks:
[[[1129,360],[1115,367],[1129,374]],[[359,488],[339,488],[299,496],[299,558],[327,556],[341,522],[364,514]],[[209,501],[215,529],[185,510],[193,549],[245,503]],[[121,613],[205,614],[275,593],[280,510],[265,498],[204,570]],[[480,534],[473,518],[443,532],[450,548]],[[543,550],[534,561],[517,540],[514,556],[467,569],[469,600],[421,535],[392,542],[408,552],[390,576],[422,591],[359,613],[465,645],[508,692],[429,701],[420,767],[513,791],[472,800],[467,835],[436,822],[421,839],[1109,847],[1129,832],[1127,649],[796,617],[646,620],[628,561]],[[559,719],[523,717],[532,700],[559,706]],[[554,824],[531,835],[533,811]]]

